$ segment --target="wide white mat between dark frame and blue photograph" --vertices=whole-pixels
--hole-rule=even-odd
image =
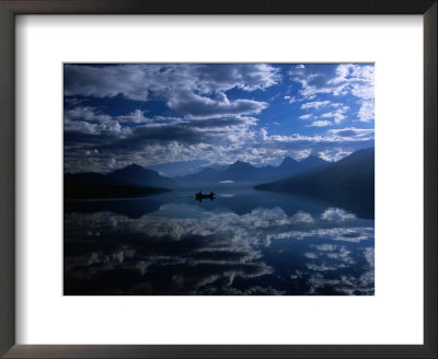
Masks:
[[[422,16],[16,21],[18,344],[423,344]],[[64,61],[376,61],[376,296],[62,297]]]

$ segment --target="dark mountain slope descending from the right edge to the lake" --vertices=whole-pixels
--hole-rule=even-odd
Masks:
[[[374,149],[359,150],[335,163],[254,188],[308,196],[373,218]]]

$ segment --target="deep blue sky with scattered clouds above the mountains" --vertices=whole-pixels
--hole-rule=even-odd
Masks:
[[[336,161],[374,141],[373,65],[65,65],[65,171]]]

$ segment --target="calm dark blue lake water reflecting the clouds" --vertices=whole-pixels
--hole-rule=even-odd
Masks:
[[[374,293],[374,221],[229,189],[65,205],[65,294]],[[208,190],[209,192],[209,190]]]

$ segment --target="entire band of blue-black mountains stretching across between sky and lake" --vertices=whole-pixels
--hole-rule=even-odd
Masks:
[[[173,178],[130,164],[108,174],[66,173],[64,180],[65,198],[137,197],[181,186],[235,183],[252,185],[257,190],[312,197],[349,209],[362,218],[373,218],[374,215],[373,148],[358,150],[337,162],[312,155],[298,162],[287,157],[278,166],[255,167],[237,161],[224,170],[207,167],[196,174]]]

